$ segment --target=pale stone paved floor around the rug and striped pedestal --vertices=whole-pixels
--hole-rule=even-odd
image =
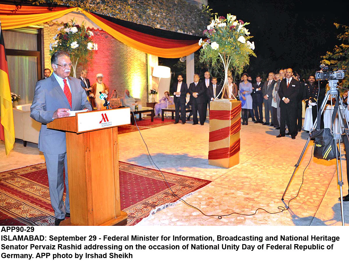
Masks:
[[[279,132],[274,128],[250,122],[241,129],[240,164],[230,169],[208,165],[208,132],[208,121],[203,126],[193,126],[189,121],[185,125],[141,130],[151,157],[161,170],[212,181],[185,199],[206,215],[232,212],[250,215],[258,208],[278,212],[278,207],[286,207],[281,197],[305,145],[305,132],[298,133],[296,140],[276,139]],[[4,143],[0,142],[0,157],[5,159],[0,162],[0,171],[44,162],[36,144],[28,144],[24,148],[21,141],[16,142],[14,150],[6,156]],[[312,146],[310,142],[285,195],[286,204],[298,192]],[[119,135],[119,160],[156,169],[138,132]],[[345,161],[342,163],[346,169]],[[348,185],[344,175],[343,195],[346,195]],[[218,219],[178,202],[138,225],[341,225],[338,197],[336,162],[311,158],[303,186],[289,210],[278,214],[258,210],[253,216],[233,214]],[[344,202],[347,224],[348,206]]]

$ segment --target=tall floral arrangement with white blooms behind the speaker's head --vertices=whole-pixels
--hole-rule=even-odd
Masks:
[[[91,51],[97,51],[96,43],[93,43],[91,37],[93,32],[86,29],[84,24],[75,24],[72,20],[59,27],[55,40],[50,43],[51,54],[56,51],[66,51],[70,54],[73,63],[73,74],[76,77],[77,62],[86,62]]]

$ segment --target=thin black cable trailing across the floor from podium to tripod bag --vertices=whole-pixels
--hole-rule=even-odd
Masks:
[[[129,108],[131,109],[130,106],[126,106],[126,107],[129,107]],[[131,109],[131,112],[132,112],[132,114],[133,114],[133,117],[135,117],[135,116],[134,116],[134,113],[133,113],[133,111],[132,111],[132,109]],[[148,149],[148,146],[147,146],[147,143],[144,141],[143,136],[142,136],[142,133],[141,133],[141,131],[140,131],[140,129],[139,129],[139,127],[138,127],[136,121],[135,121],[135,124],[136,124],[136,127],[137,127],[137,129],[138,129],[139,134],[141,135],[141,138],[142,138],[142,140],[143,140],[143,143],[144,143],[144,145],[145,145],[146,148],[147,148],[148,155],[149,155],[149,157],[150,157],[150,159],[151,159],[151,162],[153,162],[153,164],[156,166],[156,168],[160,171],[162,177],[164,178],[164,180],[165,180],[165,182],[166,182],[166,186],[170,189],[172,195],[173,195],[174,197],[177,197],[178,200],[180,200],[180,201],[182,201],[183,203],[185,203],[188,207],[191,207],[191,208],[193,208],[193,209],[196,209],[196,210],[200,211],[202,215],[207,216],[207,217],[217,217],[218,219],[222,219],[222,217],[230,216],[230,215],[233,215],[233,214],[243,215],[243,216],[253,216],[253,215],[257,214],[257,211],[258,211],[258,210],[264,210],[265,212],[267,212],[267,213],[269,213],[269,214],[277,214],[277,213],[281,213],[281,212],[283,212],[283,211],[285,211],[285,210],[288,210],[288,209],[290,208],[290,202],[298,197],[300,188],[302,188],[303,181],[304,181],[304,172],[305,172],[305,170],[307,169],[307,167],[309,166],[309,164],[310,164],[310,162],[311,162],[311,159],[312,159],[312,157],[313,157],[313,149],[314,149],[314,146],[315,146],[315,143],[314,143],[314,145],[313,145],[313,147],[312,147],[312,150],[311,150],[312,153],[311,153],[311,157],[310,157],[310,159],[309,159],[309,163],[306,165],[306,167],[305,167],[305,169],[304,169],[304,171],[303,171],[302,183],[301,183],[300,186],[299,186],[297,195],[288,201],[287,208],[285,208],[285,207],[283,207],[283,206],[279,206],[279,207],[277,207],[277,208],[278,208],[280,211],[277,211],[277,212],[269,212],[269,211],[266,210],[266,209],[258,208],[258,209],[255,210],[255,212],[254,212],[253,214],[244,214],[244,213],[239,213],[239,212],[232,212],[232,213],[230,213],[230,214],[225,214],[225,215],[216,215],[216,214],[214,214],[214,215],[207,215],[207,214],[205,214],[204,212],[202,212],[199,208],[197,208],[197,207],[195,207],[195,206],[192,206],[191,204],[187,203],[184,199],[182,199],[181,197],[177,196],[176,193],[174,193],[174,192],[172,191],[172,189],[171,189],[169,183],[167,182],[167,180],[166,180],[164,174],[163,174],[162,171],[159,169],[159,167],[155,164],[153,158],[151,157],[150,152],[149,152],[149,149]]]

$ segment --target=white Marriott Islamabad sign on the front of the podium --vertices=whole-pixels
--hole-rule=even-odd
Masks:
[[[131,123],[130,108],[81,112],[76,117],[77,133]]]

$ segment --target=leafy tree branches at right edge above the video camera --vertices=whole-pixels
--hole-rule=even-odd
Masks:
[[[337,35],[337,39],[341,41],[340,45],[335,45],[332,52],[326,52],[323,58],[324,60],[321,63],[336,66],[338,69],[347,69],[349,68],[349,26],[334,23],[337,29],[344,29],[344,32],[341,32]],[[342,87],[349,89],[349,76],[348,72],[342,81]]]

